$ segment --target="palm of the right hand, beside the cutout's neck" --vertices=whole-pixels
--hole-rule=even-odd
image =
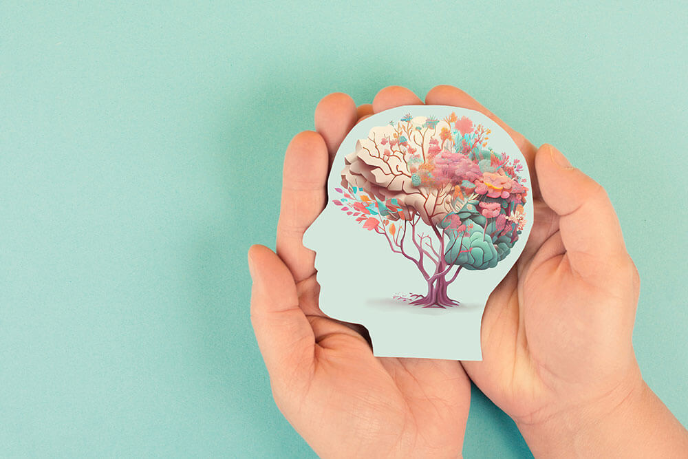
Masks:
[[[619,375],[634,365],[634,313],[625,305],[638,295],[629,258],[566,250],[557,213],[541,198],[534,207],[524,253],[486,305],[484,360],[463,363],[476,385],[523,423],[595,403],[619,388]]]

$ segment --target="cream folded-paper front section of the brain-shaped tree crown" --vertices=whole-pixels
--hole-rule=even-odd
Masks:
[[[453,210],[449,189],[433,189],[416,186],[411,179],[408,161],[413,153],[424,158],[432,138],[438,138],[442,128],[449,129],[445,121],[437,123],[434,129],[422,129],[427,118],[416,116],[403,134],[407,145],[395,138],[391,125],[370,129],[368,137],[358,139],[356,149],[344,157],[341,172],[343,186],[357,186],[379,200],[395,199],[407,217],[419,213],[429,225],[438,224],[447,213]],[[396,145],[391,145],[396,139]],[[440,198],[441,197],[441,198]],[[394,216],[393,220],[396,220]]]

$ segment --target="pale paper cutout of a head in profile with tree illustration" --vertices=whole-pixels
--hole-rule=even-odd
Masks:
[[[304,237],[323,312],[365,325],[378,356],[480,359],[486,299],[533,220],[504,129],[458,107],[380,112],[342,142],[327,191]]]

